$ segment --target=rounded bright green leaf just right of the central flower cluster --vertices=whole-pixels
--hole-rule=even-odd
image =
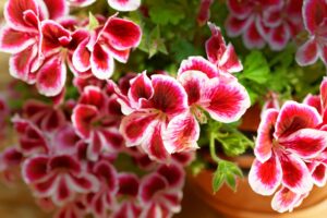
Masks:
[[[246,56],[244,71],[240,76],[258,84],[264,84],[268,80],[269,72],[270,69],[266,58],[262,52],[255,50]]]

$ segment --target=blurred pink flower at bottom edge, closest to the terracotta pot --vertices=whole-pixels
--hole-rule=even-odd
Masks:
[[[184,171],[178,165],[161,166],[143,178],[140,201],[141,217],[170,217],[181,210]]]

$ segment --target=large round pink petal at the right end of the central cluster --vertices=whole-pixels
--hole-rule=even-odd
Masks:
[[[234,122],[250,107],[246,89],[237,81],[211,81],[202,98],[202,107],[219,122]]]

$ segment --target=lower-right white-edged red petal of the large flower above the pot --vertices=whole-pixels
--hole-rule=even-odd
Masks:
[[[279,156],[282,169],[282,184],[294,193],[304,194],[313,187],[311,173],[299,157],[295,155]]]

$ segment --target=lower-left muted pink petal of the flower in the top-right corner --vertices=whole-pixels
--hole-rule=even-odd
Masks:
[[[310,39],[303,44],[295,55],[295,60],[301,66],[313,64],[318,60],[318,45],[315,39]]]

